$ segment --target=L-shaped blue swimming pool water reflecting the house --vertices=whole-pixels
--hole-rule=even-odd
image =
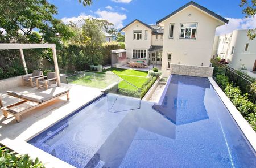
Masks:
[[[105,94],[28,143],[75,167],[255,167],[207,78],[172,75],[160,105]]]

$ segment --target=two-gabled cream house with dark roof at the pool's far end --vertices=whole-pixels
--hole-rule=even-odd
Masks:
[[[121,29],[125,32],[127,60],[160,64],[163,76],[212,76],[215,31],[225,23],[228,20],[193,1],[156,21],[156,25],[135,19]]]

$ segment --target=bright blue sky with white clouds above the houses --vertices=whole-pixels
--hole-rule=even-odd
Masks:
[[[187,0],[93,0],[92,6],[82,6],[78,0],[48,0],[53,3],[59,13],[58,19],[69,23],[78,23],[81,18],[94,17],[105,19],[121,29],[134,19],[146,24],[155,24],[156,21],[190,2]],[[216,34],[232,32],[234,29],[250,29],[256,27],[256,16],[245,18],[241,0],[195,0],[194,2],[208,8],[218,15],[229,20],[229,24],[218,27]]]

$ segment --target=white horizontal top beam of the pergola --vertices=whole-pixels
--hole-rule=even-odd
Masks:
[[[55,48],[55,44],[19,44],[19,43],[2,43],[0,44],[0,50],[11,49],[42,49],[42,48]]]

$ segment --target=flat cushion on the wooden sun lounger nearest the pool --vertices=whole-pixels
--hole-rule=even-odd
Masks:
[[[60,96],[61,94],[65,94],[69,92],[69,89],[67,88],[60,88],[60,87],[55,87],[55,88],[50,88],[47,89],[46,91],[42,91],[39,93],[35,94],[30,94],[30,95],[23,95],[21,98],[24,98],[26,100],[31,100],[34,102],[38,102],[39,104],[42,102],[46,102],[48,100],[51,100],[52,98],[55,98],[57,96]]]

